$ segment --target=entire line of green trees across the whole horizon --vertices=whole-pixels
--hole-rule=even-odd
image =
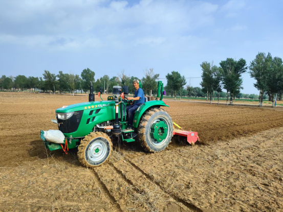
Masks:
[[[279,57],[272,58],[271,54],[258,53],[254,60],[248,66],[246,60],[241,58],[235,60],[227,58],[219,63],[219,66],[213,62],[204,61],[200,64],[202,69],[201,87],[192,87],[191,79],[188,85],[185,76],[181,76],[179,72],[172,71],[166,75],[167,84],[164,87],[167,96],[176,97],[206,97],[211,101],[217,97],[218,103],[220,98],[226,98],[228,105],[230,98],[230,105],[233,104],[235,98],[241,99],[259,99],[259,106],[262,106],[263,100],[268,99],[274,102],[274,96],[277,100],[282,100],[283,94],[283,64],[282,59]],[[249,69],[249,71],[248,71]],[[243,89],[242,74],[248,72],[252,78],[256,80],[254,86],[259,90],[259,95],[247,95],[241,93]],[[134,79],[139,79],[142,83],[142,88],[145,95],[156,95],[157,81],[159,74],[155,74],[153,68],[145,69],[144,76],[139,79],[135,76],[129,76],[122,70],[117,76],[110,78],[108,75],[95,80],[95,73],[85,68],[82,70],[81,75],[73,73],[64,74],[62,71],[59,74],[50,73],[49,70],[44,70],[42,77],[26,77],[18,75],[16,77],[6,77],[3,75],[0,78],[1,90],[39,90],[43,92],[59,91],[60,93],[71,92],[75,95],[77,91],[87,92],[90,88],[91,82],[94,85],[94,91],[97,93],[102,87],[104,93],[112,93],[113,86],[127,85],[129,92],[134,93],[132,82]],[[186,85],[186,86],[185,86]],[[184,87],[185,86],[185,87]],[[226,90],[226,92],[223,91]],[[278,94],[278,95],[277,95]]]

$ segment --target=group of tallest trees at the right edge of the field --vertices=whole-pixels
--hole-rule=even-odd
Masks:
[[[263,100],[266,96],[269,101],[274,105],[274,96],[277,100],[282,100],[283,94],[283,64],[282,59],[279,57],[272,58],[271,54],[258,53],[254,60],[247,66],[246,60],[241,58],[235,60],[227,58],[219,64],[220,66],[213,65],[207,61],[202,62],[202,90],[207,92],[210,96],[210,104],[212,93],[217,92],[218,102],[222,89],[227,92],[227,101],[230,96],[230,105],[233,100],[240,95],[240,90],[243,89],[242,74],[247,72],[252,78],[256,80],[254,83],[255,88],[259,90],[259,107],[262,107]]]

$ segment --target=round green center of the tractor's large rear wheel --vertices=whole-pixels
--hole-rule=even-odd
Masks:
[[[150,140],[156,146],[162,145],[168,137],[168,123],[165,119],[159,118],[150,126]]]

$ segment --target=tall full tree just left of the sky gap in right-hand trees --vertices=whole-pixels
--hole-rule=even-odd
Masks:
[[[234,60],[233,58],[227,58],[220,62],[220,67],[223,70],[223,88],[227,90],[227,102],[228,105],[228,92],[230,92],[230,105],[233,105],[233,93],[237,93],[240,89],[243,89],[242,74],[246,72],[248,66],[246,66],[246,60],[241,58],[240,60]]]

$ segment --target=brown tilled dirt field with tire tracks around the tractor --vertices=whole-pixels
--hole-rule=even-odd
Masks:
[[[103,96],[103,99],[105,97]],[[56,129],[55,109],[85,96],[0,92],[1,211],[282,211],[283,112],[167,102],[201,144],[172,143],[147,154],[115,143],[95,170],[76,152],[47,152],[40,129]]]

